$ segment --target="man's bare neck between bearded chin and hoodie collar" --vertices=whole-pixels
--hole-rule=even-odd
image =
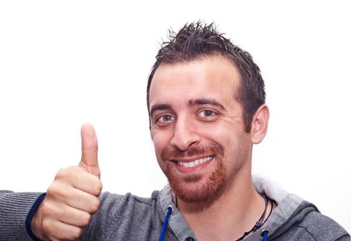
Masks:
[[[265,202],[254,189],[250,171],[238,173],[228,183],[219,196],[207,202],[178,199],[179,210],[198,240],[237,240],[259,220]]]

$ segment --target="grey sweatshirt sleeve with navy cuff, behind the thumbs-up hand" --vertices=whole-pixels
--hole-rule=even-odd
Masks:
[[[45,193],[0,191],[0,240],[33,240],[30,220],[44,196]]]

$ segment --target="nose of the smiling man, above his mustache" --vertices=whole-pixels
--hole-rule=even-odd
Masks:
[[[178,116],[174,127],[171,145],[181,151],[186,151],[191,145],[199,143],[200,137],[195,123],[188,118]]]

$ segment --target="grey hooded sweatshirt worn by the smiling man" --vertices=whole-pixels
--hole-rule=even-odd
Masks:
[[[310,202],[277,189],[261,178],[253,178],[253,182],[259,193],[265,193],[278,206],[261,229],[243,240],[263,240],[264,229],[268,230],[268,240],[350,240],[350,235],[337,222],[323,216]],[[36,240],[28,235],[31,233],[28,224],[39,205],[40,200],[32,207],[40,194],[0,192],[0,240]],[[197,240],[174,205],[169,186],[152,192],[151,198],[104,192],[100,199],[99,211],[79,240],[159,240],[168,207],[172,207],[172,213],[164,240]]]

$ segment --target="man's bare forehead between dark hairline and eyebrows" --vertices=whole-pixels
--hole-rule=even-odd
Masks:
[[[223,56],[206,56],[194,61],[161,64],[150,85],[150,107],[157,104],[187,102],[196,98],[232,101],[240,74]]]

